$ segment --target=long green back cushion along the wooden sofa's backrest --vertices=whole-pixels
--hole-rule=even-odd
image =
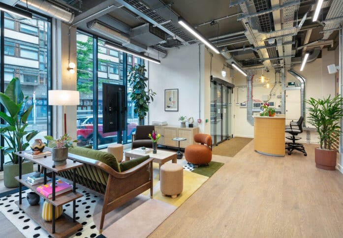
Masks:
[[[100,150],[88,149],[88,148],[77,147],[77,146],[73,148],[69,148],[69,153],[101,161],[107,164],[108,166],[110,166],[115,171],[121,172],[119,163],[113,154],[100,151]]]

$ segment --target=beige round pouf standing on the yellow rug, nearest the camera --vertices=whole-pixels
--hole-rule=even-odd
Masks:
[[[163,164],[160,168],[160,189],[163,196],[176,198],[184,189],[184,169],[180,164]]]

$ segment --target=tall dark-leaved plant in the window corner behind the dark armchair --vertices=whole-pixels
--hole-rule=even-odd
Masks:
[[[128,72],[128,82],[132,86],[132,92],[130,94],[131,100],[134,103],[133,111],[138,114],[138,125],[143,124],[144,117],[147,116],[149,111],[148,103],[154,101],[156,92],[147,88],[148,78],[145,77],[145,65],[133,66]]]

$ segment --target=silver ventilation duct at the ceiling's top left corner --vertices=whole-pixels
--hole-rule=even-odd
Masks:
[[[44,0],[20,0],[18,4],[23,7],[28,6],[29,9],[47,14],[65,23],[71,23],[74,20],[74,13],[68,12]]]

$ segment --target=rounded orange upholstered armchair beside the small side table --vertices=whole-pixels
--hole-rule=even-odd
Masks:
[[[210,163],[212,160],[212,137],[208,134],[195,134],[194,141],[200,144],[186,147],[187,162],[197,165]]]

